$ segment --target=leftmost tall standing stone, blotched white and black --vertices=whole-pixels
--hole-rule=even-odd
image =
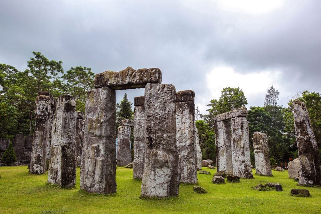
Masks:
[[[47,138],[49,136],[50,97],[36,98],[36,124],[32,139],[30,172],[44,174],[46,170]]]

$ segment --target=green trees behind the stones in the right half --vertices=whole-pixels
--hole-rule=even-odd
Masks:
[[[321,154],[321,94],[304,91],[289,100],[288,106],[279,106],[279,91],[273,86],[267,89],[264,106],[253,106],[248,109],[247,121],[249,125],[251,162],[254,165],[254,151],[252,136],[255,132],[268,135],[270,158],[287,162],[298,158],[298,148],[295,139],[293,120],[293,100],[299,99],[306,103],[314,134],[317,138]],[[203,159],[216,160],[214,116],[241,108],[247,104],[247,99],[239,88],[224,88],[219,100],[212,99],[208,114],[199,114],[195,109],[196,126],[199,132],[199,141],[202,148]]]

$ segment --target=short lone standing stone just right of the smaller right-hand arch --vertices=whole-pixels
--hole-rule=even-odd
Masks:
[[[255,132],[253,134],[253,148],[256,174],[272,176],[267,134]]]

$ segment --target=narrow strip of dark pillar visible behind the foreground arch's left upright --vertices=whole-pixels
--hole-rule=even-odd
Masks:
[[[77,167],[80,167],[80,160],[82,154],[82,146],[84,141],[84,126],[85,120],[83,119],[83,112],[77,111],[77,121],[76,121],[76,162]]]

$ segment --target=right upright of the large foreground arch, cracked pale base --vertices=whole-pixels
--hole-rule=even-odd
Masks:
[[[141,197],[178,195],[181,172],[176,144],[175,95],[173,85],[146,84]]]

